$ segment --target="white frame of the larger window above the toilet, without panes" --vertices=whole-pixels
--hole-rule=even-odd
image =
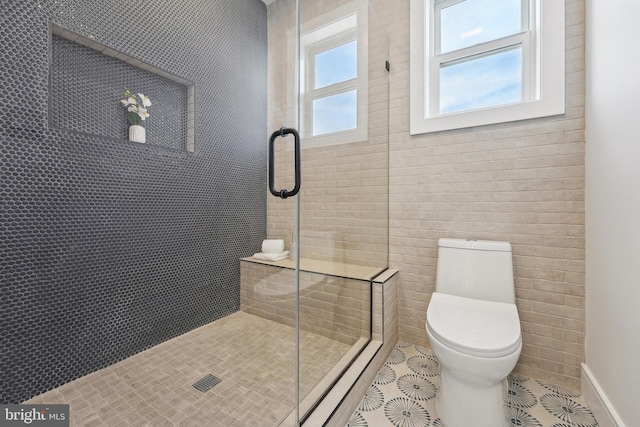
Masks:
[[[564,114],[564,1],[529,0],[528,31],[438,55],[437,12],[459,1],[411,0],[410,133],[416,135]],[[439,113],[440,64],[468,60],[474,55],[516,44],[523,46],[521,102]]]

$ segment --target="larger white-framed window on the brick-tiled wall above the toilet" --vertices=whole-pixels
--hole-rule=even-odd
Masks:
[[[411,134],[564,113],[564,2],[411,0]]]

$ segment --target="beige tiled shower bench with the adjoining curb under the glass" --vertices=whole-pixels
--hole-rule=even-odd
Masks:
[[[346,369],[345,373],[307,423],[344,426],[349,421],[398,340],[397,297],[396,270],[300,259],[300,328],[352,346],[327,381]],[[242,311],[295,326],[295,263],[242,258],[240,298]],[[326,386],[320,383],[309,393],[300,413]]]

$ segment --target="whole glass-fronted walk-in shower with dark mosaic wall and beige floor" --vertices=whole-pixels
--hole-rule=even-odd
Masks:
[[[302,423],[372,340],[388,263],[376,1],[5,3],[1,403]],[[265,237],[293,260],[252,259]]]

